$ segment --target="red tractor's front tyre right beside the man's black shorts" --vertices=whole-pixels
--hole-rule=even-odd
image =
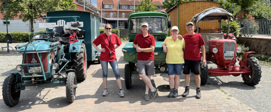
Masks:
[[[205,62],[204,65],[202,65],[201,63],[201,69],[200,69],[200,76],[201,76],[201,85],[205,85],[207,83],[207,79],[208,79],[208,66],[207,66],[207,62]]]

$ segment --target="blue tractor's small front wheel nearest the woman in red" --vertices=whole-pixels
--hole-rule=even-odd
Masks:
[[[74,72],[68,73],[68,78],[66,80],[66,97],[68,103],[72,103],[75,100],[76,96],[76,87],[77,87],[77,81],[76,76]]]

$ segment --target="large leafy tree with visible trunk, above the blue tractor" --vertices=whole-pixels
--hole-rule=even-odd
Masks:
[[[34,20],[40,18],[41,13],[68,9],[77,10],[76,4],[72,3],[73,0],[7,0],[6,11],[5,0],[0,1],[2,1],[0,5],[2,20],[5,20],[6,16],[9,20],[14,20],[17,16],[23,22],[30,20],[31,32],[34,32]]]

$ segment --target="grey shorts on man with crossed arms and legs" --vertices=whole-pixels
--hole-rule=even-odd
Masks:
[[[154,60],[137,60],[139,75],[154,75]]]

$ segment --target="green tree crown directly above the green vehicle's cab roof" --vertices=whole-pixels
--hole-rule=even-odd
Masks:
[[[142,0],[136,7],[136,12],[142,12],[142,11],[154,11],[158,8],[155,6],[157,4],[152,4],[150,0]]]

